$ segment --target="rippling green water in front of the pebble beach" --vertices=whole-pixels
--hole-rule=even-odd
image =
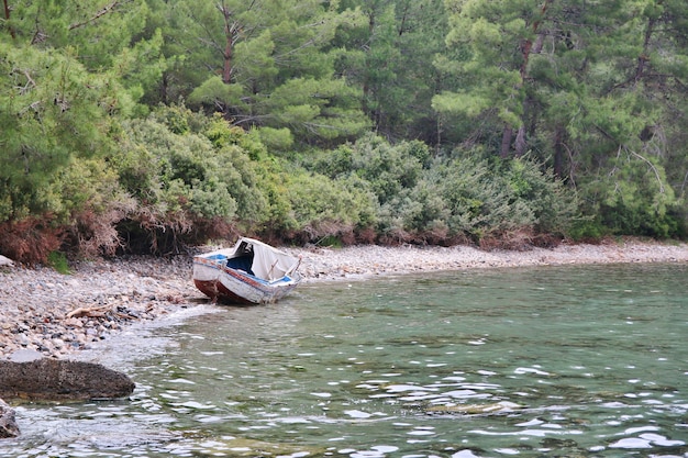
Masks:
[[[20,406],[0,457],[688,457],[687,276],[459,271],[215,308],[109,362],[131,400]]]

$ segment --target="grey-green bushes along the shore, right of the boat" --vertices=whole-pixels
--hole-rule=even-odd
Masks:
[[[541,164],[436,158],[420,142],[390,145],[367,136],[313,161],[312,168],[342,180],[358,180],[377,201],[381,243],[480,243],[518,235],[523,244],[563,237],[577,217],[574,193]]]

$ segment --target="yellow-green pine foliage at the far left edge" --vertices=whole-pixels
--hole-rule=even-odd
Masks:
[[[57,51],[0,49],[0,222],[70,210],[51,183],[75,158],[107,150],[111,87]]]

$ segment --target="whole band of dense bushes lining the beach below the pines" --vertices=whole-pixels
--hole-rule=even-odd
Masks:
[[[170,253],[237,233],[299,244],[537,243],[563,236],[576,213],[573,194],[525,158],[433,158],[421,142],[368,135],[296,156],[299,165],[255,132],[184,107],[122,122],[113,135],[106,157],[75,158],[55,176],[44,198],[52,217],[7,227],[5,238],[46,234],[33,243],[41,255],[20,258],[44,260],[60,244],[81,256]]]

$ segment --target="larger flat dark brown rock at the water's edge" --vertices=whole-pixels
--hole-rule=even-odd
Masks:
[[[126,375],[93,362],[49,358],[0,360],[0,398],[4,399],[115,399],[130,395],[135,387]]]

